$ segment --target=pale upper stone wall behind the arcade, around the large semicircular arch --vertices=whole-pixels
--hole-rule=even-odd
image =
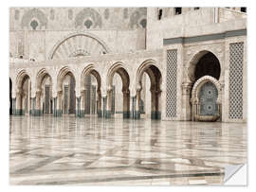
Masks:
[[[143,8],[11,8],[10,10],[10,55],[27,60],[45,61],[54,46],[69,34],[92,34],[107,44],[112,53],[127,53],[145,49],[145,28],[141,21],[146,19]],[[68,11],[72,11],[69,19]],[[84,12],[82,12],[84,11]],[[83,13],[83,15],[82,15]],[[83,20],[82,20],[83,19]],[[83,26],[89,19],[93,25]],[[36,30],[30,22],[36,20]],[[77,23],[81,25],[78,26]]]

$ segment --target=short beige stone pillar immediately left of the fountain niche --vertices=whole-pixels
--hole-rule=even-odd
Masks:
[[[191,92],[192,82],[182,83],[182,110],[181,120],[191,121],[192,120],[192,107],[191,107]]]

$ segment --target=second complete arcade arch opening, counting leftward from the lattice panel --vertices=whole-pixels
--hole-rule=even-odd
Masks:
[[[122,63],[114,64],[108,72],[108,90],[105,117],[111,115],[130,117],[130,77]],[[119,80],[122,85],[120,86]],[[119,99],[122,96],[122,99]]]

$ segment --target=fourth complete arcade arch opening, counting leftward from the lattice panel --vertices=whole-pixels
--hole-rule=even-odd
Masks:
[[[76,80],[68,67],[64,67],[57,78],[57,115],[76,113]]]

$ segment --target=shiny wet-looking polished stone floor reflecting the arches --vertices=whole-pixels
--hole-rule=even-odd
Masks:
[[[247,162],[241,123],[10,116],[9,125],[10,184],[223,184]]]

